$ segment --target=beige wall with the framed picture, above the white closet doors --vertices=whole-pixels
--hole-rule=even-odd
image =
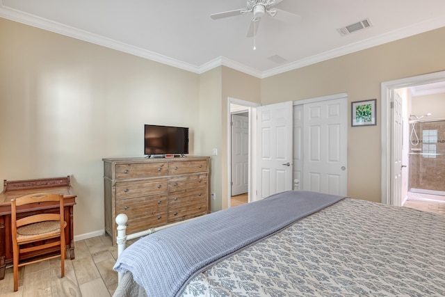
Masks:
[[[415,35],[263,79],[261,104],[342,92],[349,102],[376,98],[378,125],[348,128],[348,195],[380,202],[381,83],[445,70],[444,53],[445,28]]]

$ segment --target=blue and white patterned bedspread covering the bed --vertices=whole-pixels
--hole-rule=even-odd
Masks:
[[[181,297],[445,296],[445,214],[346,198],[197,275]]]

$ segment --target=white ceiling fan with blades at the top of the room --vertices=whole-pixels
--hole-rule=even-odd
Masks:
[[[236,10],[229,10],[223,13],[213,13],[210,15],[212,19],[222,19],[224,17],[234,17],[236,15],[245,15],[247,13],[252,13],[252,19],[250,22],[248,37],[253,37],[256,33],[259,25],[259,21],[261,17],[266,13],[270,15],[270,17],[275,17],[275,15],[291,15],[291,17],[299,17],[299,15],[295,15],[293,13],[289,13],[285,10],[280,10],[278,8],[273,8],[277,3],[280,3],[282,0],[248,0],[246,8],[240,8]]]

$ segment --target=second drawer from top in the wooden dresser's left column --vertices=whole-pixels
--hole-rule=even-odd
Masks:
[[[166,193],[167,178],[143,179],[133,182],[116,182],[116,200]]]

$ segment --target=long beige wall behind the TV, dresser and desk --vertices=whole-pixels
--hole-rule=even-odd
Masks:
[[[72,175],[75,235],[104,230],[102,158],[143,156],[144,124],[219,142],[198,74],[1,18],[0,45],[0,179]]]

